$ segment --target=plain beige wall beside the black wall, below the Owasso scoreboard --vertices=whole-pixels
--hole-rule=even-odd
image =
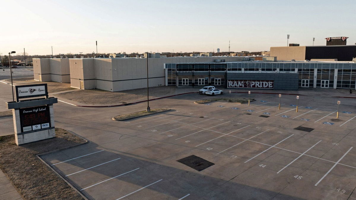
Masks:
[[[305,60],[305,46],[271,47],[271,56],[276,56],[277,60]]]

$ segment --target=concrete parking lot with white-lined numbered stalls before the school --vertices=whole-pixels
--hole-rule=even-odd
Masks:
[[[313,99],[298,112],[292,95],[281,109],[276,95],[255,99],[158,100],[171,110],[107,122],[120,134],[42,159],[88,199],[356,199],[355,106],[336,119],[336,105]],[[177,162],[191,155],[214,165]]]

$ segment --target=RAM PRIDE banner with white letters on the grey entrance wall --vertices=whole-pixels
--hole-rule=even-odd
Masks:
[[[227,80],[227,88],[273,89],[273,80]]]

